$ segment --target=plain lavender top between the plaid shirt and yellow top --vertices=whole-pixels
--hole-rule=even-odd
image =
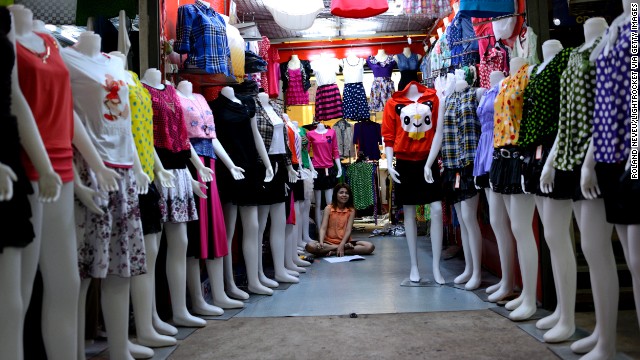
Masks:
[[[478,140],[478,150],[473,161],[473,176],[481,176],[491,170],[493,160],[493,103],[496,101],[500,83],[485,91],[478,105],[478,120],[480,120],[481,133]]]

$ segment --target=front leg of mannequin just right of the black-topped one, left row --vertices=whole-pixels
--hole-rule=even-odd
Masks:
[[[290,275],[285,268],[285,227],[287,225],[287,217],[284,203],[273,204],[269,208],[269,214],[271,215],[269,242],[271,243],[271,256],[273,257],[276,281],[298,283],[300,280]]]

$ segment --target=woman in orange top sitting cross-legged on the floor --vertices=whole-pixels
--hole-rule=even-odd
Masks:
[[[331,204],[324,209],[318,239],[307,243],[306,250],[316,256],[369,255],[375,249],[368,241],[351,240],[356,210],[353,193],[347,184],[333,188]]]

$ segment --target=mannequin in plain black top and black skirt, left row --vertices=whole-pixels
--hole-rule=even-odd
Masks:
[[[247,153],[247,156],[249,157],[255,156],[255,155],[259,156],[262,159],[262,163],[264,164],[262,166],[266,167],[266,174],[264,179],[263,178],[258,179],[257,172],[253,172],[251,173],[251,175],[247,176],[247,173],[249,171],[254,171],[255,169],[243,167],[243,169],[245,170],[246,180],[248,184],[252,187],[252,189],[245,189],[244,191],[251,190],[251,193],[255,194],[257,193],[256,186],[255,186],[256,183],[259,186],[262,186],[261,183],[263,182],[263,180],[264,182],[269,182],[273,179],[273,176],[274,176],[273,168],[271,167],[271,163],[268,161],[269,156],[267,154],[267,150],[264,146],[264,142],[262,141],[262,137],[258,132],[256,118],[255,116],[251,116],[251,118],[248,119],[249,124],[245,124],[242,130],[239,130],[239,128],[229,128],[227,130],[226,129],[227,124],[225,122],[226,115],[222,112],[223,108],[228,106],[236,106],[236,107],[245,109],[247,105],[235,96],[233,88],[229,86],[225,86],[224,88],[222,88],[222,90],[220,91],[220,95],[221,96],[219,96],[216,100],[214,100],[211,106],[211,109],[214,110],[214,118],[216,119],[216,122],[217,122],[216,131],[218,133],[220,142],[224,145],[226,149],[229,149],[230,147],[233,147],[233,143],[231,142],[232,138],[235,136],[238,136],[236,131],[246,131],[246,128],[250,128],[252,132],[253,142],[249,141],[248,144],[254,144],[253,146],[255,147],[255,153],[253,153],[254,151],[253,149],[249,149],[250,151],[249,153]],[[250,104],[249,103],[250,101],[251,100],[248,100],[247,104]],[[219,111],[220,113],[216,114],[216,111]],[[249,115],[253,115],[253,114],[249,114]],[[234,149],[232,153],[234,155],[232,156],[236,156],[236,158],[232,157],[232,159],[234,163],[237,164],[238,163],[237,156],[239,156],[238,149],[246,150],[247,146],[241,146],[241,145],[238,145],[237,143],[235,145],[238,148]],[[250,161],[253,161],[253,159],[250,159]],[[257,168],[258,166],[256,165],[254,165],[253,168]],[[218,176],[219,175],[220,175],[220,170],[218,169]],[[255,177],[255,178],[252,178],[252,177]],[[231,186],[230,184],[228,185]],[[237,189],[238,191],[240,191],[243,185],[239,185],[239,186],[240,188]],[[221,187],[221,190],[220,190],[221,196],[225,194],[227,191],[236,190],[233,188],[226,189],[224,187],[224,184],[221,184],[220,187]],[[237,214],[239,211],[240,218],[242,219],[242,233],[243,233],[242,252],[244,255],[244,261],[245,261],[245,266],[247,271],[248,290],[255,294],[272,295],[273,290],[271,290],[267,286],[264,286],[259,279],[258,264],[259,264],[259,257],[261,257],[261,251],[260,251],[260,242],[259,242],[259,235],[258,235],[258,219],[259,219],[258,206],[254,205],[255,198],[251,199],[250,201],[245,201],[245,199],[238,198],[238,196],[240,195],[238,193],[233,193],[232,195],[233,196],[227,199],[221,198],[221,201],[223,202],[224,218],[226,223],[225,226],[227,229],[228,246],[229,248],[231,248],[231,242],[233,240],[233,235],[235,232]],[[231,252],[229,252],[229,254],[224,257],[224,274],[225,274],[225,285],[226,285],[225,287],[226,287],[227,293],[229,296],[233,298],[246,300],[249,298],[249,294],[238,289],[238,287],[236,286],[234,277],[233,277],[232,264],[233,264],[233,260],[231,258]]]

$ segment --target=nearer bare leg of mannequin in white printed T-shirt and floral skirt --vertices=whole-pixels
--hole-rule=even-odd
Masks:
[[[102,279],[100,303],[107,328],[109,358],[131,359],[129,333],[129,278],[109,275]]]

